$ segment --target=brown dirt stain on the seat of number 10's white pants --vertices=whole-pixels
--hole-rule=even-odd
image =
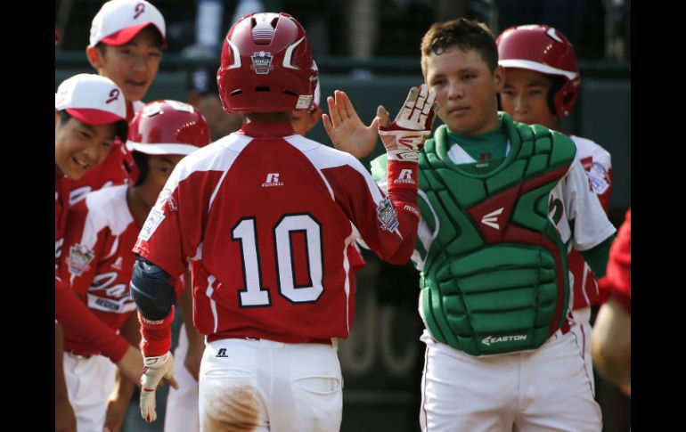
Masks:
[[[249,432],[257,428],[260,402],[255,387],[216,388],[206,400],[207,432]]]

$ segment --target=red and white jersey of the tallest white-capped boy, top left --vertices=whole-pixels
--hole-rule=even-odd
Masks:
[[[134,118],[135,113],[143,108],[141,101],[127,102],[127,123]],[[110,155],[101,165],[94,167],[77,181],[69,181],[69,203],[73,206],[83,200],[86,194],[108,186],[135,183],[138,178],[138,168],[127,146],[117,138]]]

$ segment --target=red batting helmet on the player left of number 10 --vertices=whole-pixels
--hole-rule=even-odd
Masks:
[[[209,143],[209,127],[191,105],[176,101],[147,103],[131,120],[127,147],[145,154],[190,154]]]

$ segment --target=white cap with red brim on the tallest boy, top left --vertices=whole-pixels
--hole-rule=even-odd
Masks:
[[[90,45],[124,45],[141,30],[152,25],[167,45],[164,17],[145,0],[110,0],[102,4],[91,24]]]

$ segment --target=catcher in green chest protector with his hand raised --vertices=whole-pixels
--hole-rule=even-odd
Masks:
[[[445,123],[419,159],[412,260],[421,270],[427,345],[421,428],[600,431],[600,407],[569,332],[567,253],[579,250],[602,276],[616,230],[576,145],[498,112],[504,70],[483,23],[434,24],[422,39],[421,67]],[[337,96],[331,116],[350,103]],[[363,128],[351,116],[330,136],[346,148]],[[386,183],[386,157],[372,161],[372,174]]]

